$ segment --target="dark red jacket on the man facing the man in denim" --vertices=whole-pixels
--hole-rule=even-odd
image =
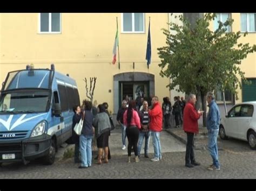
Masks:
[[[183,130],[185,132],[198,133],[199,118],[200,118],[200,115],[198,114],[194,105],[188,102],[183,112]]]

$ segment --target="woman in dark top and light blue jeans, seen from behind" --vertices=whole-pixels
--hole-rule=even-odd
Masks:
[[[93,138],[93,127],[92,119],[93,115],[91,112],[92,102],[84,102],[83,112],[83,129],[80,135],[80,153],[81,153],[81,165],[79,168],[87,168],[91,166],[92,162],[92,138]]]

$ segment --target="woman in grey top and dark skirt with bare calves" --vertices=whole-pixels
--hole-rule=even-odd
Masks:
[[[107,155],[109,154],[109,133],[111,130],[111,124],[109,116],[105,112],[103,104],[98,105],[98,114],[93,119],[93,126],[95,126],[95,136],[97,138],[98,147],[98,162],[102,164],[102,153],[104,149],[104,163],[109,162]]]

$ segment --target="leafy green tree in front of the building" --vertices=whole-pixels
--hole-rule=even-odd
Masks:
[[[179,16],[183,25],[169,23],[170,31],[163,29],[167,45],[158,48],[160,75],[172,79],[166,87],[174,89],[179,85],[178,91],[200,95],[204,111],[208,91],[220,87],[220,90],[229,89],[237,96],[238,86],[241,88],[238,75],[246,80],[239,68],[241,60],[256,51],[256,45],[238,44],[242,35],[240,31],[226,32],[233,19],[225,23],[219,21],[218,29],[211,31],[209,25],[214,19],[215,13],[206,13],[191,27],[183,16]],[[247,32],[243,35],[246,36]],[[205,113],[203,117],[206,126]]]

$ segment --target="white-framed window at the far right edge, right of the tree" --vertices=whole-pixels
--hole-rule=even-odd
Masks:
[[[256,13],[240,14],[241,32],[256,32]]]

